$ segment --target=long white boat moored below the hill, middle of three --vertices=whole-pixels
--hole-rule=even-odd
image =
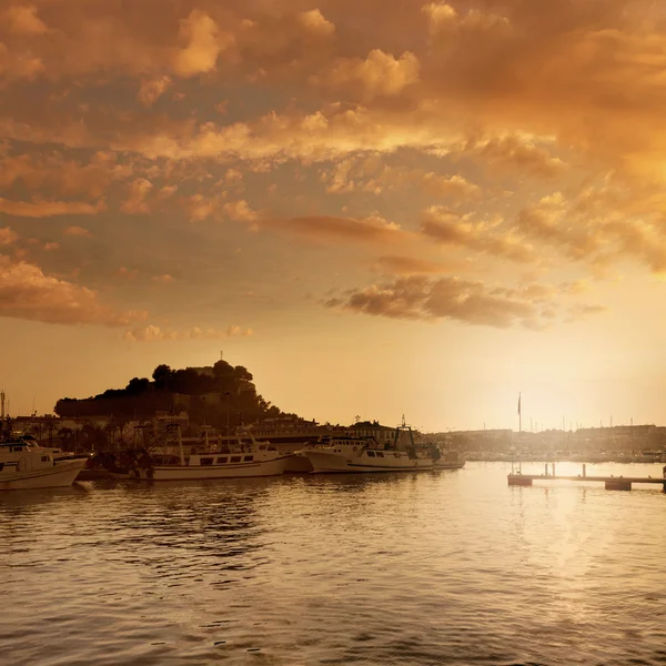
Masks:
[[[208,438],[206,438],[208,448]],[[195,481],[276,476],[284,473],[293,454],[282,454],[269,442],[256,442],[239,434],[235,443],[215,450],[184,454],[179,432],[179,453],[152,453],[151,464],[139,470],[141,478],[152,481]]]

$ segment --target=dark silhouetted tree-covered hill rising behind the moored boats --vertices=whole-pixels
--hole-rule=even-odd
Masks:
[[[256,393],[252,373],[242,365],[218,361],[212,367],[172,370],[158,365],[148,377],[133,377],[124,389],[109,389],[85,400],[64,397],[56,403],[59,416],[113,414],[150,418],[157,411],[186,410],[194,423],[231,427],[282,412]]]

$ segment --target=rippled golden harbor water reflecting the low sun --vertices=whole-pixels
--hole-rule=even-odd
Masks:
[[[509,470],[2,493],[0,663],[666,664],[666,495]]]

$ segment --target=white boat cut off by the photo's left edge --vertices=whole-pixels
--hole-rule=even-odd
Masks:
[[[49,448],[18,440],[0,442],[0,491],[70,486],[88,456],[54,460]]]

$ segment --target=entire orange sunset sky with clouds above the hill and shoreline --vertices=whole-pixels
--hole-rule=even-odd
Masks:
[[[0,386],[220,354],[320,422],[666,424],[666,12],[9,0]]]

